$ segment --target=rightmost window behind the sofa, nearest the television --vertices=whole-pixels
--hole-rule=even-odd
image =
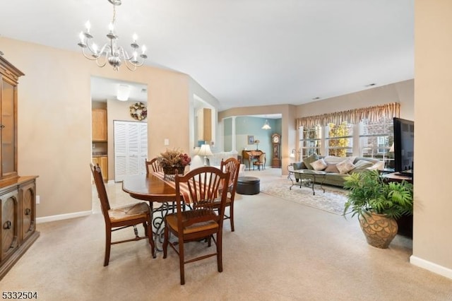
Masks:
[[[382,117],[378,122],[363,119],[359,123],[359,155],[367,158],[377,158],[385,161],[386,166],[392,166],[393,153],[393,119]]]

